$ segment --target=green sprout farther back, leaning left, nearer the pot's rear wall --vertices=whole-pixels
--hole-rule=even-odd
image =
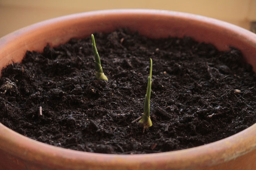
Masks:
[[[100,63],[100,56],[97,51],[96,45],[95,45],[95,40],[93,34],[91,34],[91,41],[92,41],[92,47],[93,47],[93,56],[94,56],[94,63],[95,63],[95,76],[96,79],[98,80],[108,80],[107,76],[103,73],[101,63]]]

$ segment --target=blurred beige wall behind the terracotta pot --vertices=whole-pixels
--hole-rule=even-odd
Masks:
[[[249,29],[256,0],[0,0],[0,37],[42,20],[91,10],[149,8],[195,13]]]

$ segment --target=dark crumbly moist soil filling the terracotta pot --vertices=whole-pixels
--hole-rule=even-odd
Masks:
[[[2,71],[0,122],[54,146],[96,153],[155,153],[205,145],[256,122],[256,74],[230,47],[94,34],[108,81],[96,80],[91,38],[27,51]],[[150,116],[142,116],[153,59]],[[42,115],[40,115],[40,108]]]

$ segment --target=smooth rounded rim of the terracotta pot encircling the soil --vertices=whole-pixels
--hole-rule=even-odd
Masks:
[[[228,30],[232,34],[237,34],[237,36],[246,39],[249,44],[253,44],[256,47],[256,34],[249,32],[246,29],[223,22],[216,19],[211,19],[208,17],[203,17],[200,15],[194,15],[182,12],[172,12],[165,10],[142,10],[142,9],[123,9],[123,10],[100,10],[94,12],[84,12],[72,15],[66,15],[63,17],[58,17],[55,19],[46,20],[33,24],[31,26],[17,30],[11,34],[8,34],[0,39],[0,49],[7,43],[12,42],[12,40],[17,39],[19,36],[27,34],[34,29],[40,29],[41,27],[46,27],[55,22],[64,22],[79,17],[90,17],[93,15],[111,15],[111,14],[155,14],[155,15],[172,15],[177,18],[196,20],[203,24],[210,24],[216,27]],[[76,166],[84,165],[105,165],[114,164],[117,167],[130,167],[131,165],[136,166],[138,163],[146,163],[150,165],[151,162],[158,162],[161,165],[167,165],[172,163],[183,163],[184,167],[188,167],[187,162],[193,163],[193,165],[215,165],[216,163],[226,162],[235,157],[239,157],[248,153],[256,148],[256,124],[250,126],[246,130],[243,130],[235,135],[232,135],[223,140],[219,140],[207,145],[198,146],[194,148],[189,148],[185,150],[169,151],[163,153],[151,153],[151,154],[138,154],[138,155],[115,155],[115,154],[101,154],[101,153],[89,153],[82,151],[69,150],[65,148],[59,148],[56,146],[41,143],[39,141],[32,140],[26,136],[20,135],[15,131],[10,130],[6,126],[0,123],[0,138],[6,143],[1,149],[8,151],[12,155],[24,159],[29,157],[31,162],[39,162],[45,160],[47,157],[49,164],[59,164],[67,160],[76,164]],[[18,142],[19,141],[19,142]],[[1,144],[0,144],[1,146]],[[16,149],[16,146],[18,149]],[[209,155],[209,151],[211,155]],[[214,152],[213,152],[214,151]],[[33,157],[33,155],[37,155]],[[198,159],[194,159],[197,157]],[[62,161],[56,162],[51,160],[56,160],[60,158]],[[70,164],[74,168],[74,164]]]

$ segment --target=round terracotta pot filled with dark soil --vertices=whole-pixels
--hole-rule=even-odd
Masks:
[[[46,20],[0,39],[0,68],[20,62],[26,50],[42,51],[120,27],[147,37],[190,36],[219,50],[237,47],[256,71],[256,34],[226,22],[162,10],[105,10]],[[0,123],[1,170],[255,170],[256,124],[236,135],[195,148],[144,155],[68,150],[34,141]]]

